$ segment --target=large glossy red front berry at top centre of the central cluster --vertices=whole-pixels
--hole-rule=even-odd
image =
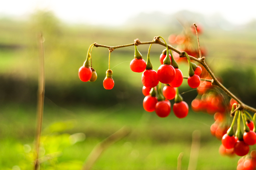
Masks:
[[[175,69],[172,65],[160,65],[157,70],[157,77],[161,83],[169,84],[175,78]]]

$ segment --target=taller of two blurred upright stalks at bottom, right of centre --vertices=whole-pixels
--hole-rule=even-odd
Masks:
[[[192,133],[192,144],[191,144],[188,170],[196,170],[199,149],[200,149],[200,131],[195,130]]]

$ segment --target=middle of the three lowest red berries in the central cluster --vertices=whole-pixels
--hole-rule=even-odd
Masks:
[[[171,112],[169,100],[157,102],[155,112],[159,117],[167,117]]]

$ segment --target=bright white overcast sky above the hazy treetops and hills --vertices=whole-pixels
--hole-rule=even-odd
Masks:
[[[5,0],[0,5],[0,16],[26,17],[47,9],[66,22],[115,26],[141,12],[172,14],[189,10],[205,15],[218,13],[231,23],[244,24],[256,19],[255,6],[256,0]]]

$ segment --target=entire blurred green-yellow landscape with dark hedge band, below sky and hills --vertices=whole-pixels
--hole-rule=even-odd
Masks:
[[[41,153],[61,152],[46,161],[42,170],[79,170],[93,147],[123,126],[131,128],[129,136],[103,153],[93,169],[102,170],[175,170],[177,156],[184,153],[183,167],[189,163],[192,132],[201,132],[198,170],[233,170],[239,157],[222,157],[221,142],[211,136],[213,117],[189,112],[185,119],[173,113],[158,118],[143,110],[141,74],[130,71],[134,47],[111,53],[115,87],[102,86],[108,69],[108,49],[93,48],[96,82],[81,82],[78,69],[90,44],[124,45],[151,41],[154,36],[168,38],[179,34],[175,28],[106,28],[62,23],[50,12],[39,11],[28,20],[0,19],[0,169],[29,170],[35,134],[35,112],[38,81],[37,33],[45,37],[46,98],[43,121],[44,149]],[[205,30],[200,36],[207,48],[206,61],[224,85],[245,103],[256,107],[256,32],[253,30]],[[196,43],[196,42],[195,42]],[[146,59],[148,45],[138,46]],[[164,47],[152,45],[153,69],[160,66]],[[180,64],[187,76],[188,66]],[[186,81],[180,88],[188,104],[197,96]],[[218,90],[218,89],[217,89]],[[189,92],[188,92],[189,91]],[[228,98],[227,98],[228,100]],[[172,104],[174,103],[171,101]],[[52,131],[51,131],[52,130]],[[75,144],[70,135],[85,134]],[[29,149],[30,148],[30,149]],[[20,169],[17,169],[19,166]],[[15,169],[16,168],[16,169]]]

